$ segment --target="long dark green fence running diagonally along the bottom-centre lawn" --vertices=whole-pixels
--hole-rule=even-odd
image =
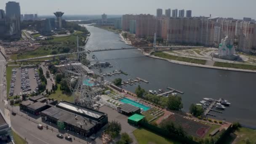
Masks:
[[[173,139],[173,140],[176,140],[176,141],[180,141],[183,144],[199,144],[196,141],[193,141],[193,140],[185,138],[185,137],[178,136],[176,134],[169,133],[168,131],[165,131],[162,128],[159,128],[159,127],[157,127],[155,125],[151,125],[151,124],[149,124],[147,122],[144,122],[144,121],[142,121],[140,123],[140,125],[143,128],[145,128],[145,129],[147,129],[149,131],[152,131],[153,133],[156,133],[158,135],[161,135],[161,136],[165,137],[166,139]]]

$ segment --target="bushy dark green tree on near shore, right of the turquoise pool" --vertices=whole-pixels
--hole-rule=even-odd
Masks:
[[[168,101],[167,101],[167,107],[168,109],[171,109],[171,110],[181,110],[183,108],[181,97],[169,95]]]

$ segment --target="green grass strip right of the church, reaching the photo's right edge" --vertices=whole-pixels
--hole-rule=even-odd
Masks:
[[[236,69],[248,69],[248,70],[256,70],[255,65],[249,64],[233,64],[233,63],[226,63],[226,62],[218,62],[214,63],[216,67],[229,67],[229,68],[236,68]]]

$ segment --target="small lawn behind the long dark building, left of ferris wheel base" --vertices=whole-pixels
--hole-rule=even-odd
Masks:
[[[49,98],[57,99],[58,101],[61,101],[61,100],[69,101],[69,102],[73,102],[74,101],[74,97],[73,96],[68,96],[68,95],[62,93],[59,84],[58,84],[58,89],[55,91],[55,93],[51,93]]]

